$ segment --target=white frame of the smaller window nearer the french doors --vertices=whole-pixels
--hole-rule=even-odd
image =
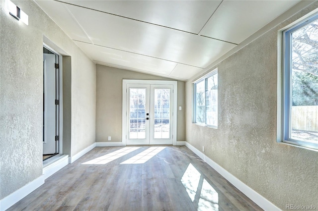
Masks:
[[[192,123],[194,124],[198,124],[198,125],[201,125],[201,126],[206,126],[206,127],[211,127],[211,128],[218,128],[218,119],[219,119],[219,99],[218,99],[218,104],[217,104],[217,124],[216,125],[209,125],[209,124],[206,124],[206,112],[204,114],[204,119],[205,119],[205,123],[201,123],[201,122],[196,122],[196,84],[202,82],[202,81],[205,81],[205,89],[206,89],[206,81],[208,78],[210,78],[211,76],[215,75],[215,74],[218,74],[218,68],[212,70],[210,73],[208,73],[207,75],[199,78],[198,80],[194,81],[193,82],[193,111],[192,111]],[[218,75],[218,84],[219,84],[219,75]],[[219,86],[218,86],[218,92],[219,92]],[[219,97],[218,97],[219,98]],[[205,96],[205,106],[206,106],[206,96]]]

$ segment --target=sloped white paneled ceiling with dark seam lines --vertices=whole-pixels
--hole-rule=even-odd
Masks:
[[[187,80],[300,0],[35,0],[95,63]]]

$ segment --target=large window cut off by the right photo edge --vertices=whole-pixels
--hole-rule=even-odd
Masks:
[[[318,15],[283,37],[283,142],[318,149]]]

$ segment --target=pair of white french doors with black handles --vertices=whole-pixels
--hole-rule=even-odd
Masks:
[[[127,145],[173,144],[173,85],[127,84]]]

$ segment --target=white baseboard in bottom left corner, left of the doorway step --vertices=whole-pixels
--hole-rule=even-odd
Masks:
[[[10,208],[12,205],[26,197],[32,191],[40,187],[44,184],[44,176],[40,176],[33,180],[32,182],[26,184],[22,188],[16,190],[15,192],[11,193],[7,197],[0,200],[0,211],[5,211],[6,209]]]

